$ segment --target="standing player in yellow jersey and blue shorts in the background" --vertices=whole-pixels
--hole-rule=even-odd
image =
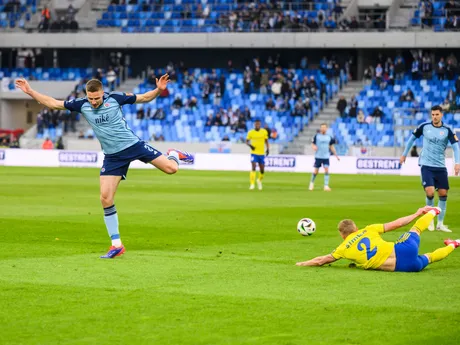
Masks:
[[[249,189],[254,189],[256,180],[256,168],[259,164],[259,178],[257,179],[257,187],[262,190],[262,180],[265,172],[265,156],[268,156],[270,145],[268,144],[268,132],[261,128],[259,119],[254,121],[254,129],[248,132],[246,144],[251,148],[251,165],[252,170],[249,174],[251,185]]]

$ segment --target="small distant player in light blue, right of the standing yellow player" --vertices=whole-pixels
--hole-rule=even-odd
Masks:
[[[324,167],[324,190],[330,192],[331,188],[329,187],[329,158],[332,154],[340,161],[339,156],[335,152],[335,140],[334,138],[327,134],[327,125],[322,123],[319,128],[319,133],[317,133],[312,140],[312,147],[315,150],[315,164],[313,165],[313,175],[311,175],[309,190],[315,188],[315,179],[318,175],[319,168]]]

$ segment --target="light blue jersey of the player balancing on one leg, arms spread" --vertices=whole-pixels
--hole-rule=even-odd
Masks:
[[[81,113],[93,128],[105,154],[113,154],[133,146],[138,141],[123,117],[121,106],[136,102],[136,95],[121,92],[104,93],[99,108],[93,108],[86,97],[64,102],[70,111]]]

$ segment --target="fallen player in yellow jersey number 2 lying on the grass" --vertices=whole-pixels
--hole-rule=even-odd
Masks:
[[[428,264],[446,258],[460,246],[460,240],[445,240],[446,247],[436,249],[432,253],[418,254],[420,234],[428,228],[430,222],[440,212],[439,207],[425,206],[409,216],[386,224],[368,225],[361,230],[358,230],[352,220],[342,220],[339,223],[340,236],[344,239],[342,244],[331,254],[298,262],[297,266],[322,266],[340,259],[348,259],[363,269],[420,272]],[[387,242],[380,237],[384,232],[408,225],[422,214],[424,216],[418,219],[411,230],[404,233],[396,242]]]

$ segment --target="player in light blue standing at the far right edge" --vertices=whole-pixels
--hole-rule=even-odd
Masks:
[[[414,145],[415,140],[423,135],[423,149],[420,153],[418,165],[421,167],[422,185],[425,189],[426,204],[434,206],[434,192],[438,191],[438,207],[441,213],[438,217],[436,230],[452,232],[444,225],[447,207],[447,191],[449,190],[449,180],[446,168],[445,152],[447,145],[450,143],[454,150],[455,175],[460,171],[460,151],[458,147],[458,138],[452,130],[442,122],[442,108],[434,106],[431,108],[431,122],[424,122],[414,130],[409,141],[407,142],[404,153],[400,158],[401,164],[406,161],[407,154]],[[428,227],[433,231],[434,221]]]

